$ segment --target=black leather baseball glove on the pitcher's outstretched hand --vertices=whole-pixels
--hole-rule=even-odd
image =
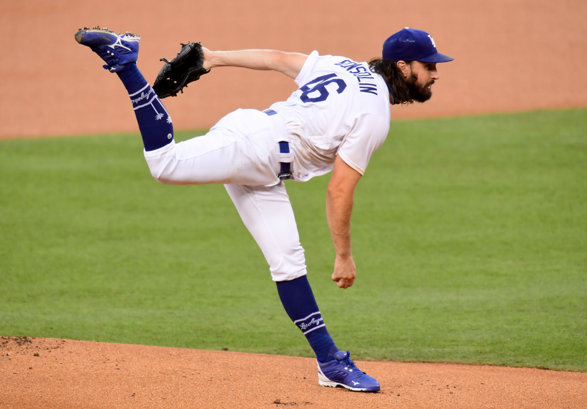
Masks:
[[[203,67],[204,52],[200,43],[181,44],[181,51],[176,58],[171,61],[161,58],[160,61],[164,61],[165,65],[153,84],[160,99],[176,97],[178,92],[183,93],[183,87],[187,87],[188,83],[210,72]]]

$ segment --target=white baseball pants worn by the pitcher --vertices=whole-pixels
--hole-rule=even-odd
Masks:
[[[144,152],[151,174],[161,183],[224,184],[274,281],[306,274],[294,211],[277,177],[277,142],[287,137],[284,132],[265,113],[239,109],[204,136]]]

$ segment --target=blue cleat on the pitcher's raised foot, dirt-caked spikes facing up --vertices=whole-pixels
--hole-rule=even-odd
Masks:
[[[141,36],[128,31],[123,35],[117,35],[108,31],[106,27],[82,27],[75,33],[75,39],[99,55],[106,62],[106,65],[103,65],[104,69],[110,72],[122,71],[125,64],[136,62],[139,57]]]

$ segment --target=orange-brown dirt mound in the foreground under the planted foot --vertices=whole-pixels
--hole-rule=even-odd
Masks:
[[[318,386],[316,361],[2,337],[0,408],[585,408],[587,373],[360,362],[379,393]]]

